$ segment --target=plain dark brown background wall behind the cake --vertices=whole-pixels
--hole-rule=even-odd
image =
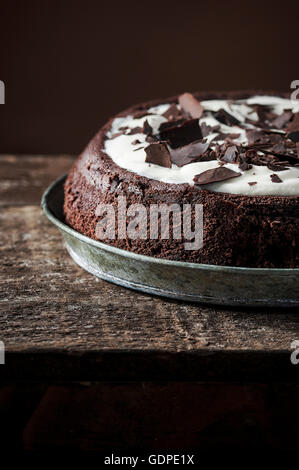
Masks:
[[[298,1],[0,4],[1,153],[78,153],[132,103],[299,79]]]

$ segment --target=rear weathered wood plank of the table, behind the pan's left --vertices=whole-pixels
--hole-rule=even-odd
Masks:
[[[73,160],[69,155],[0,155],[0,206],[39,204],[43,191]]]

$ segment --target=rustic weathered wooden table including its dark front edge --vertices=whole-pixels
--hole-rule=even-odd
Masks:
[[[6,381],[296,381],[298,309],[193,305],[83,271],[42,214],[73,158],[0,157],[0,340]]]

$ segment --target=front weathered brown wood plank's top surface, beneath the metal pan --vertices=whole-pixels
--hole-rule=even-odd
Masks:
[[[13,350],[46,341],[76,350],[188,351],[209,344],[274,351],[288,349],[299,331],[294,310],[224,310],[101,281],[74,264],[38,207],[6,208],[0,221],[1,331]]]

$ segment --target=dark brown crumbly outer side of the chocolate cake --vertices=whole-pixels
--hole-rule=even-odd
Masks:
[[[200,101],[222,98],[243,100],[248,96],[256,96],[256,94],[257,92],[251,94],[246,92],[195,94],[195,97]],[[150,239],[149,222],[146,239],[133,240],[129,237],[124,239],[118,237],[116,223],[115,239],[103,241],[136,253],[172,260],[248,267],[298,267],[298,192],[291,195],[233,194],[212,190],[210,185],[199,186],[192,185],[190,182],[165,182],[121,167],[107,154],[105,142],[113,140],[111,139],[111,129],[115,119],[126,118],[137,112],[142,114],[150,108],[161,106],[161,104],[168,106],[175,104],[177,106],[177,100],[177,97],[174,97],[132,107],[110,120],[99,131],[77,159],[66,180],[64,212],[67,223],[75,230],[97,239],[96,227],[99,221],[96,214],[97,207],[109,204],[117,211],[119,196],[126,198],[128,206],[142,204],[146,208],[148,221],[152,204],[171,205],[176,203],[180,207],[183,207],[184,204],[202,204],[203,246],[199,250],[186,250],[184,238],[182,240],[175,239],[171,230],[168,239],[162,239],[161,236],[157,239]],[[166,121],[163,120],[163,122]],[[128,129],[125,132],[128,132]],[[138,140],[138,133],[136,133],[134,140]],[[202,142],[204,139],[199,140],[200,143],[205,143]],[[232,146],[232,142],[230,144]],[[134,145],[138,147],[139,144]],[[227,148],[224,150],[226,151]],[[210,148],[209,151],[214,151],[214,149]],[[291,156],[290,160],[292,158]],[[276,160],[272,160],[269,165],[271,164],[272,168],[278,168],[278,170],[271,170],[271,174],[287,174],[288,169],[281,170],[279,165],[277,167]],[[218,160],[204,161],[205,165],[212,161],[213,165],[216,163],[218,167]],[[194,165],[194,163],[192,164]],[[150,165],[158,166],[155,163]],[[236,163],[231,165],[236,166]],[[240,165],[238,162],[236,168],[238,172],[242,171],[239,170]],[[225,166],[223,161],[219,166]],[[172,164],[172,170],[175,169],[173,167]],[[160,168],[157,171],[159,170]],[[166,167],[163,167],[163,172],[164,170]],[[242,174],[245,171],[248,170],[244,170]],[[294,170],[292,169],[292,171]],[[237,180],[237,178],[235,179]],[[252,182],[254,183],[254,181]],[[215,183],[212,184],[215,185]],[[245,184],[248,185],[247,182]],[[281,183],[273,182],[273,185],[275,184],[281,185]],[[251,187],[251,185],[248,186]],[[291,190],[293,191],[293,189]],[[130,218],[128,217],[126,223],[129,222]],[[170,222],[172,222],[172,218],[170,218]]]

